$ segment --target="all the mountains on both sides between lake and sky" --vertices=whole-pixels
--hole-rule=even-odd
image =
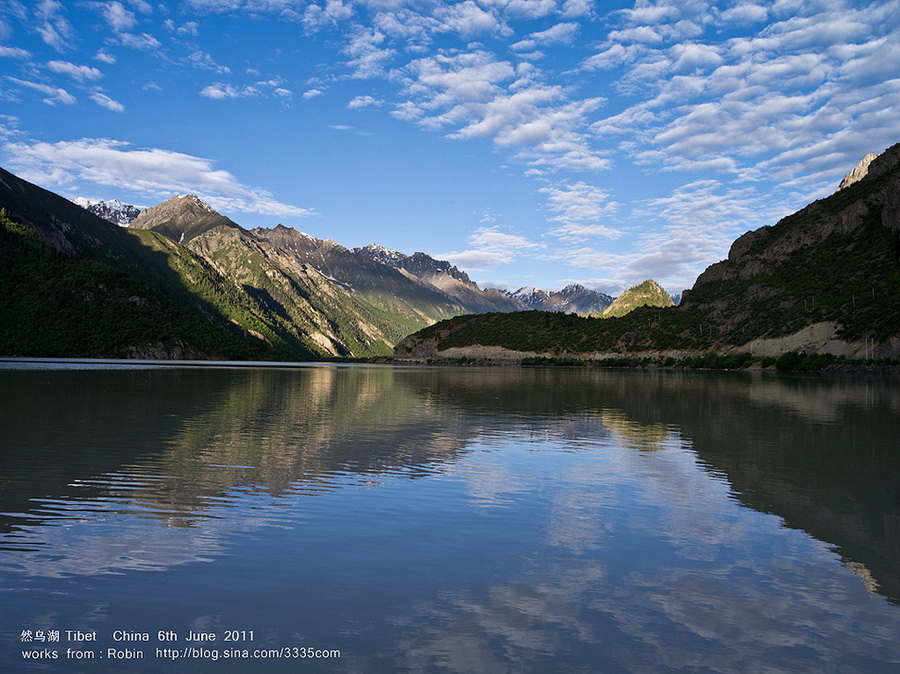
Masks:
[[[2,169],[0,283],[2,356],[898,359],[900,145],[740,237],[677,306],[652,281],[482,289],[425,253],[247,229],[193,195],[73,203]]]

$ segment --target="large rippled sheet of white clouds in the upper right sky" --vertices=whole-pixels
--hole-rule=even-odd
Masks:
[[[611,31],[582,67],[617,69],[612,86],[637,102],[595,122],[591,130],[598,137],[625,137],[620,147],[649,169],[758,180],[777,166],[783,186],[806,174],[814,176],[810,184],[828,178],[810,157],[791,162],[796,150],[834,147],[829,139],[840,138],[840,150],[828,152],[821,169],[830,165],[833,180],[873,144],[880,148],[900,135],[900,120],[865,106],[891,97],[891,64],[900,58],[895,2],[853,6],[832,0],[771,11],[741,3],[704,11],[656,4],[623,14],[626,26]],[[781,19],[758,26],[773,13]],[[666,46],[687,19],[695,26],[741,26],[743,33],[728,39],[711,33]],[[640,37],[634,31],[645,29],[660,42],[651,44],[643,32],[648,40],[634,43]],[[864,121],[875,116],[880,131]]]

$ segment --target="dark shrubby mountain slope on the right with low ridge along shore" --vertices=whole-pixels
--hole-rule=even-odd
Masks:
[[[677,307],[597,320],[459,317],[398,344],[398,357],[687,357],[749,353],[900,358],[900,145],[843,188],[748,232]]]

